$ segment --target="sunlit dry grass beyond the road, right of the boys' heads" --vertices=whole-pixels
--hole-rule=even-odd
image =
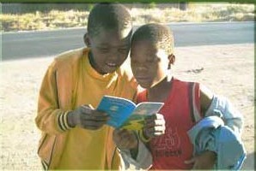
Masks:
[[[192,3],[186,11],[174,8],[131,9],[131,14],[133,14],[133,19],[137,24],[152,21],[162,23],[180,21],[253,21],[254,6],[230,3]]]

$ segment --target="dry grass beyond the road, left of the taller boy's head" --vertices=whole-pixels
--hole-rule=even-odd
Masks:
[[[84,27],[88,11],[57,11],[28,13],[24,15],[0,15],[2,32],[46,30],[64,27]]]

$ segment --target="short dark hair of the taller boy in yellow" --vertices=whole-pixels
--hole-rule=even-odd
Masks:
[[[132,18],[124,5],[119,3],[97,3],[88,15],[88,35],[94,36],[100,28],[122,31],[132,27]]]

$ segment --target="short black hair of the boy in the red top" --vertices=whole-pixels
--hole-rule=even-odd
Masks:
[[[173,32],[161,24],[150,23],[138,27],[132,35],[131,44],[139,40],[149,40],[156,44],[157,48],[166,50],[169,55],[174,53]]]

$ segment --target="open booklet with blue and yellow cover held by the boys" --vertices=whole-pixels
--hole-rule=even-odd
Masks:
[[[157,113],[162,105],[163,103],[155,102],[143,102],[136,105],[131,100],[122,97],[104,96],[97,110],[110,115],[110,120],[107,121],[109,126],[140,130],[143,128],[145,117]]]

